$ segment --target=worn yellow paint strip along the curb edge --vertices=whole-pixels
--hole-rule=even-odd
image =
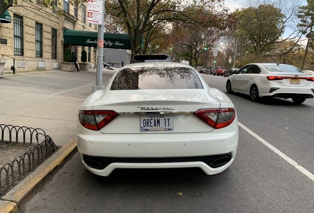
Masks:
[[[20,191],[15,193],[13,198],[11,200],[17,201],[20,203],[20,201],[25,197],[25,195],[28,194],[30,190],[32,190],[40,181],[41,179],[45,178],[49,173],[51,173],[54,168],[57,166],[60,166],[64,159],[77,147],[77,141],[76,137],[71,139],[69,142],[67,142],[64,146],[62,146],[59,150],[59,152],[63,152],[60,154],[60,156],[55,159],[52,163],[49,164],[48,167],[46,167],[40,174],[38,174],[32,181],[30,181],[27,185],[25,185]],[[22,204],[21,204],[22,205]]]

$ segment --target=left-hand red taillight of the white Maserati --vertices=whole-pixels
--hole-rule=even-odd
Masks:
[[[113,119],[118,113],[113,110],[79,110],[80,124],[89,130],[98,131]]]

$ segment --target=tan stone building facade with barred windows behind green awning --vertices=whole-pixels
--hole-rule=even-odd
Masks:
[[[18,5],[21,2],[18,0]],[[96,49],[63,42],[64,29],[97,32],[98,25],[87,22],[87,2],[80,8],[69,0],[61,2],[62,15],[38,0],[8,8],[12,22],[0,23],[0,61],[5,62],[5,71],[11,69],[13,61],[16,72],[60,70],[67,47],[76,53],[78,62],[81,51],[86,50],[89,68],[96,66]]]

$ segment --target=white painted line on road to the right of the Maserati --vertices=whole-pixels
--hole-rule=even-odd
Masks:
[[[248,129],[246,126],[244,126],[243,124],[241,124],[240,122],[238,122],[239,126],[242,127],[246,132],[248,132],[250,135],[252,135],[254,138],[256,138],[257,140],[259,140],[260,142],[264,143],[267,147],[269,147],[270,149],[272,149],[275,153],[277,153],[280,157],[282,157],[285,161],[287,161],[289,164],[291,164],[292,166],[294,166],[297,170],[299,170],[301,173],[303,173],[304,175],[306,175],[307,177],[309,177],[311,180],[314,181],[314,175],[312,173],[310,173],[308,170],[306,170],[305,168],[303,168],[302,166],[299,166],[297,164],[297,162],[295,162],[294,160],[292,160],[291,158],[289,158],[287,155],[283,154],[281,151],[279,151],[275,146],[271,145],[269,142],[265,141],[264,139],[262,139],[261,137],[259,137],[258,135],[256,135],[254,132],[252,132],[250,129]]]

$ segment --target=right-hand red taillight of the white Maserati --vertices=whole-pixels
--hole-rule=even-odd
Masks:
[[[229,126],[236,118],[235,108],[198,109],[194,114],[215,129]]]

